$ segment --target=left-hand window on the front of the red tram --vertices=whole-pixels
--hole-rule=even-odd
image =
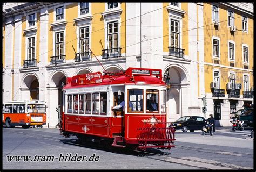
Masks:
[[[143,113],[143,90],[129,89],[128,92],[128,112]]]

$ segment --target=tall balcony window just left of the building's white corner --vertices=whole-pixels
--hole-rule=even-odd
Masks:
[[[109,49],[118,48],[118,21],[108,23],[107,26],[107,40],[109,41]]]

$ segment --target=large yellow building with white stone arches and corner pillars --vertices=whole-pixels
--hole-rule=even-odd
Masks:
[[[49,126],[66,78],[104,69],[162,69],[169,121],[253,103],[252,3],[3,3],[2,26],[3,100],[45,101]]]

